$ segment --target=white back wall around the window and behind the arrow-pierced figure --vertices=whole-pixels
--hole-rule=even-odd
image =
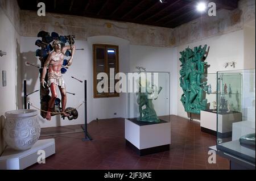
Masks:
[[[40,65],[35,57],[35,45],[37,37],[22,37],[21,40],[21,64],[23,79],[27,79],[27,92],[39,89],[38,69],[33,66],[26,66],[25,62]],[[74,81],[71,76],[79,79],[86,79],[88,85],[88,123],[92,120],[109,119],[113,117],[126,117],[126,94],[121,93],[118,98],[93,98],[93,44],[114,44],[119,46],[119,71],[127,73],[137,71],[136,66],[143,66],[147,71],[170,71],[171,72],[171,114],[176,114],[176,92],[177,70],[175,49],[161,47],[146,47],[130,45],[129,41],[113,36],[89,37],[88,41],[76,41],[77,50],[71,68],[65,73],[64,79],[67,83],[67,91],[73,92],[76,96],[68,94],[67,107],[75,107],[84,99],[84,85]],[[59,93],[60,95],[60,93]],[[22,95],[20,95],[22,96]],[[39,92],[29,96],[28,100],[36,107],[40,107]],[[68,121],[62,120],[59,116],[53,116],[51,121],[41,119],[42,127],[55,127],[84,123],[84,106],[80,107],[79,118]],[[114,115],[114,113],[117,113]]]

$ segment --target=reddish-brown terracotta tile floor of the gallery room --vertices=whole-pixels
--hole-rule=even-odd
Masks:
[[[171,149],[140,157],[125,144],[124,119],[92,121],[88,132],[92,141],[81,141],[84,133],[41,136],[55,138],[56,154],[46,164],[28,169],[229,169],[229,161],[217,156],[216,164],[208,163],[208,147],[216,137],[200,131],[200,124],[171,116]],[[42,134],[70,132],[80,126],[43,128]]]

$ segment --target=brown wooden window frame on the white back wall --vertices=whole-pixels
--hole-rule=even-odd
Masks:
[[[108,74],[108,48],[114,48],[116,50],[116,70],[115,73],[119,72],[119,46],[118,45],[110,45],[110,44],[93,44],[93,98],[111,98],[111,97],[119,97],[118,92],[110,93],[110,92],[102,92],[101,94],[97,94],[97,66],[96,66],[96,48],[105,47],[105,73]],[[118,81],[118,80],[117,80]],[[116,81],[115,81],[116,83]]]

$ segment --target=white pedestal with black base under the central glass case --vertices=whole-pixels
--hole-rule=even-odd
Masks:
[[[139,155],[170,150],[171,123],[150,124],[125,119],[126,144],[132,146]]]

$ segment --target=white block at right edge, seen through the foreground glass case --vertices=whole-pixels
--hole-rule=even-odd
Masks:
[[[254,121],[240,121],[233,123],[232,141],[239,140],[241,136],[245,136],[246,134],[250,133],[255,133]]]

